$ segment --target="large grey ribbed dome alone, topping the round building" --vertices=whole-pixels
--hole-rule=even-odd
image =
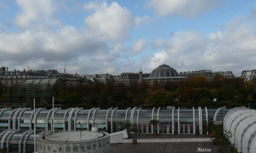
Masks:
[[[158,66],[152,71],[149,77],[159,78],[159,77],[178,77],[179,73],[172,67],[166,64]]]

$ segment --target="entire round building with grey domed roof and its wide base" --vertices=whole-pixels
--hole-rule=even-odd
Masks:
[[[155,82],[167,82],[167,81],[182,81],[187,77],[179,76],[179,73],[172,67],[166,64],[162,64],[155,68],[149,77],[142,80],[155,83]]]

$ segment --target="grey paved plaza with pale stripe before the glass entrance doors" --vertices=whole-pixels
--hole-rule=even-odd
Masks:
[[[196,153],[197,148],[217,152],[217,146],[212,145],[208,135],[137,134],[137,144],[132,144],[133,138],[124,139],[124,143],[110,144],[111,153]]]

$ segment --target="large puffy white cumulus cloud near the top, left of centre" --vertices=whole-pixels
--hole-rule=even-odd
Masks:
[[[84,8],[94,10],[92,15],[84,19],[84,23],[93,35],[112,42],[122,42],[129,36],[134,19],[132,12],[118,3],[112,2],[109,6],[90,2]]]

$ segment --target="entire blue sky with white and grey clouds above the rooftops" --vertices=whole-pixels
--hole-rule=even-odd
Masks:
[[[78,74],[256,69],[253,0],[1,0],[0,67]]]

